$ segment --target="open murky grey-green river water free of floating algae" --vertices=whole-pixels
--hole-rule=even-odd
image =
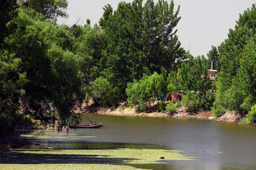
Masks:
[[[104,123],[100,129],[71,130],[85,138],[49,138],[47,147],[61,148],[166,148],[183,151],[195,161],[134,165],[154,170],[255,170],[256,127],[211,120],[83,115]],[[46,136],[55,135],[46,131]],[[59,135],[61,136],[61,134]]]

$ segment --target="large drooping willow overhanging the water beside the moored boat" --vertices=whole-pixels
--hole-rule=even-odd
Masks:
[[[65,26],[45,20],[41,14],[31,17],[27,13],[20,10],[12,21],[18,29],[6,40],[9,49],[5,56],[18,64],[18,69],[10,70],[9,74],[23,80],[22,93],[17,94],[15,102],[34,118],[46,122],[52,108],[56,108],[62,127],[77,120],[70,107],[73,102],[82,102],[81,58],[65,47],[66,41],[73,40]],[[8,82],[15,80],[11,78]],[[18,89],[14,87],[11,91]]]

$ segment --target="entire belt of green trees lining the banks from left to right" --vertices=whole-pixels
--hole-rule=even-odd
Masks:
[[[215,116],[238,110],[247,114],[244,122],[256,121],[255,4],[208,59],[180,47],[180,6],[174,10],[173,0],[122,1],[115,11],[108,4],[99,26],[90,19],[58,25],[67,0],[2,0],[0,8],[0,137],[22,114],[45,122],[57,115],[62,127],[79,123],[71,109],[89,98],[109,107],[128,102],[137,111],[157,99],[155,109],[165,110],[166,93],[180,91],[183,101],[168,110],[183,105],[194,113],[213,109]],[[216,81],[209,59],[219,61]]]

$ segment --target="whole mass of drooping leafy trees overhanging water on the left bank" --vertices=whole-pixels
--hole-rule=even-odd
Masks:
[[[82,59],[71,52],[69,28],[21,8],[12,25],[0,52],[0,136],[14,128],[19,108],[46,122],[55,108],[61,125],[76,121],[70,106],[82,102]]]

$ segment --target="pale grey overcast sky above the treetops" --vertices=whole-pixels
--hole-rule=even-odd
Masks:
[[[59,24],[72,26],[99,24],[103,15],[103,7],[110,4],[116,10],[120,1],[133,0],[68,0],[68,19],[59,19]],[[155,3],[158,0],[154,0]],[[167,0],[170,4],[171,0]],[[144,3],[146,0],[143,1]],[[219,46],[228,38],[229,29],[234,29],[239,14],[251,8],[255,0],[174,0],[174,10],[180,5],[181,20],[175,27],[181,46],[194,56],[204,55],[211,46]]]

